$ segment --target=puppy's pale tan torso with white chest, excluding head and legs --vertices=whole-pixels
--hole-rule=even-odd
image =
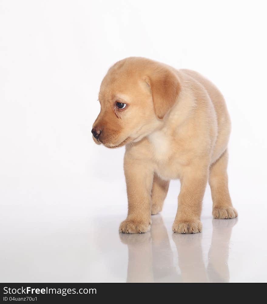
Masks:
[[[127,154],[144,150],[143,157],[154,163],[154,170],[165,180],[180,178],[183,167],[194,159],[215,162],[226,150],[231,130],[218,89],[196,72],[177,74],[182,90],[163,126],[127,149]]]

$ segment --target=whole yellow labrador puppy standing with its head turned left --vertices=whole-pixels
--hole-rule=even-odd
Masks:
[[[213,216],[238,216],[227,178],[231,122],[223,95],[209,80],[194,71],[130,57],[109,69],[99,102],[94,141],[109,148],[126,146],[128,216],[120,232],[147,232],[151,214],[162,209],[169,181],[177,178],[181,191],[174,232],[201,232],[207,181]]]

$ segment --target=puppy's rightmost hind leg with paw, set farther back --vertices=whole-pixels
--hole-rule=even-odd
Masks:
[[[211,165],[209,184],[213,201],[212,215],[216,219],[231,219],[238,216],[233,208],[228,190],[228,151],[225,150],[221,157]]]

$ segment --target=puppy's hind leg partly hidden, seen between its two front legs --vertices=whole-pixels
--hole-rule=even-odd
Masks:
[[[170,181],[164,181],[159,178],[157,174],[154,174],[153,186],[151,191],[151,214],[157,214],[161,212],[164,200],[168,193]]]

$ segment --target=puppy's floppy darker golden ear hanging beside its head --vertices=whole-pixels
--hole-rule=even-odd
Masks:
[[[181,90],[179,79],[172,71],[161,68],[146,77],[145,81],[150,86],[155,113],[158,118],[163,118],[178,98]]]

